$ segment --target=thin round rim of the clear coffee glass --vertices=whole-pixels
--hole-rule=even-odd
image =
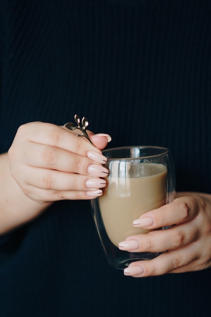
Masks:
[[[117,146],[117,147],[112,147],[112,148],[107,148],[103,150],[103,153],[113,151],[113,150],[121,150],[121,149],[132,149],[132,148],[151,148],[151,149],[160,149],[163,150],[162,153],[158,154],[152,154],[152,155],[143,155],[143,156],[129,156],[129,157],[108,157],[109,160],[137,160],[137,159],[147,159],[149,157],[157,157],[157,156],[162,156],[164,154],[167,154],[170,150],[167,147],[162,147],[162,146],[153,146],[153,145],[130,145],[130,146]]]

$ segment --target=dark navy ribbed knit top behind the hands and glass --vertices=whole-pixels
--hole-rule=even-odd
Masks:
[[[109,147],[170,148],[177,189],[211,191],[209,0],[0,0],[0,27],[1,152],[21,124],[77,113]],[[2,237],[0,316],[207,317],[210,281],[126,278],[89,202],[58,202]]]

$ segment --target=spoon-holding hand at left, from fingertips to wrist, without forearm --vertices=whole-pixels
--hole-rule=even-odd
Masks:
[[[22,125],[9,149],[10,169],[25,195],[40,204],[88,200],[102,194],[108,170],[100,150],[107,135],[90,134],[96,144],[64,127],[33,122]]]

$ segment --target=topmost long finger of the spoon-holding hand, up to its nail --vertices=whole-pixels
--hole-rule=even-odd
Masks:
[[[88,150],[101,153],[86,138],[78,138],[69,130],[50,123],[28,123],[20,126],[17,134],[30,142],[48,144],[83,156],[87,155]]]

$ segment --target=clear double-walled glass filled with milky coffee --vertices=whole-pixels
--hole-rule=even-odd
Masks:
[[[103,154],[108,157],[109,176],[103,195],[91,201],[93,216],[108,262],[124,269],[160,254],[121,251],[118,244],[130,235],[149,232],[134,227],[133,221],[174,200],[174,162],[170,150],[155,146],[112,148]]]

